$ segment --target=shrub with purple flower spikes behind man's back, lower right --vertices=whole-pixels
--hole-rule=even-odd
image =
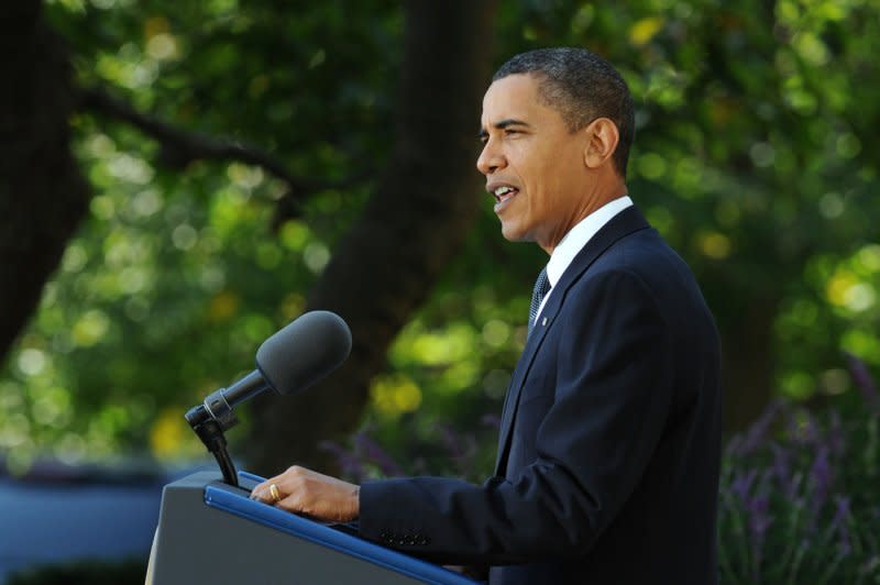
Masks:
[[[722,583],[879,583],[877,391],[850,358],[865,408],[818,417],[773,402],[725,449]]]

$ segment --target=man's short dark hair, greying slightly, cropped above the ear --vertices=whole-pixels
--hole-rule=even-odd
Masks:
[[[613,155],[614,167],[626,178],[636,121],[632,96],[617,69],[585,48],[538,48],[512,57],[492,80],[518,74],[539,78],[539,95],[562,115],[570,132],[581,130],[596,118],[612,120],[620,134]]]

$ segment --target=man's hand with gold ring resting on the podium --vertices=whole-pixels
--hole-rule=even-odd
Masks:
[[[360,514],[360,490],[354,484],[294,465],[256,486],[251,499],[318,520],[348,522]]]

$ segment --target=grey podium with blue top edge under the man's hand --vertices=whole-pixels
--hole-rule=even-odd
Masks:
[[[242,488],[222,483],[213,472],[165,486],[148,583],[477,583],[361,539],[352,526],[316,522],[252,500],[250,488],[262,478],[245,472],[238,477]]]

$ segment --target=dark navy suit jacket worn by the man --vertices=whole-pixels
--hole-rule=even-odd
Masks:
[[[708,584],[719,343],[684,262],[630,207],[575,257],[514,372],[496,474],[361,487],[366,538],[490,583]]]

